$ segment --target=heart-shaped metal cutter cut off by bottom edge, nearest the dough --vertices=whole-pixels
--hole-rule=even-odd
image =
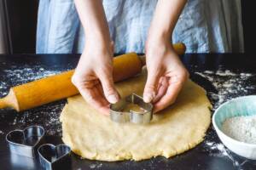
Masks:
[[[38,148],[39,161],[46,170],[71,169],[71,149],[66,144],[42,144]]]

